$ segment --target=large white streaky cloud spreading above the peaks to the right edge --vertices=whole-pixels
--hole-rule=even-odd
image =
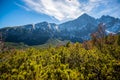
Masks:
[[[83,13],[99,17],[103,14],[119,17],[118,0],[23,0],[31,10],[52,16],[59,21],[75,19]],[[114,13],[112,13],[114,12]],[[97,13],[97,14],[96,14]]]

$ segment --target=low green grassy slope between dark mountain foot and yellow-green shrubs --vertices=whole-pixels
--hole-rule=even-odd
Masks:
[[[28,45],[25,45],[24,43],[5,42],[5,46],[12,49],[25,49],[25,48],[39,49],[39,48],[49,48],[49,47],[65,45],[68,42],[69,42],[68,40],[61,41],[58,39],[49,39],[45,44],[41,44],[41,45],[28,46]]]

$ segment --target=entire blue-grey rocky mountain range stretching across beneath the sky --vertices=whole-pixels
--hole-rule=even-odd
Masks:
[[[102,16],[95,19],[83,14],[75,20],[62,24],[41,22],[24,26],[6,27],[0,29],[5,41],[23,42],[28,45],[44,44],[51,38],[82,42],[90,39],[90,34],[97,30],[99,23],[105,23],[107,33],[120,31],[120,19],[111,16]]]

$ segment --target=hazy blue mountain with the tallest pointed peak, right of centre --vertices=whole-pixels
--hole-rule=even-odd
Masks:
[[[95,18],[83,14],[73,21],[68,21],[59,25],[62,37],[69,37],[73,41],[80,41],[80,39],[88,39],[89,34],[96,30],[97,21]],[[62,35],[64,33],[64,35]],[[75,40],[77,38],[78,40]]]

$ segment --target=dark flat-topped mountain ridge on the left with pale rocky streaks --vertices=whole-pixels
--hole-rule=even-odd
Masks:
[[[3,33],[5,41],[36,45],[44,44],[51,38],[56,32],[55,26],[56,24],[53,23],[42,22],[35,25],[3,28],[0,32]]]

